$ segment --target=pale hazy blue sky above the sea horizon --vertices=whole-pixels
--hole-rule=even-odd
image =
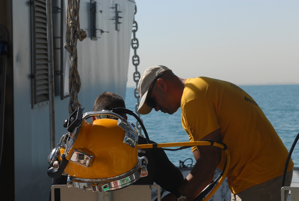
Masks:
[[[299,84],[299,1],[135,0],[138,71],[181,78]],[[135,87],[130,54],[128,87]]]

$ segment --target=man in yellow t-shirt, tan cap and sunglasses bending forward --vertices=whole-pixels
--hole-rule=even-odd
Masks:
[[[227,174],[232,200],[280,200],[288,150],[265,114],[244,90],[227,81],[207,77],[182,79],[165,66],[149,67],[138,83],[140,114],[173,114],[180,107],[182,126],[190,141],[217,140],[231,154]],[[163,200],[193,200],[223,170],[225,153],[215,146],[194,146],[196,164],[177,189]],[[290,160],[285,186],[292,182]],[[287,193],[285,194],[287,197]]]

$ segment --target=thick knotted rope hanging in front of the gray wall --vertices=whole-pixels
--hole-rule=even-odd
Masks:
[[[70,69],[68,74],[68,91],[70,100],[68,103],[68,112],[72,114],[77,107],[81,107],[78,101],[78,93],[81,88],[80,75],[77,70],[77,40],[84,40],[87,35],[84,29],[80,29],[79,21],[80,0],[68,0],[66,7],[66,42],[64,48],[68,51],[68,60]]]

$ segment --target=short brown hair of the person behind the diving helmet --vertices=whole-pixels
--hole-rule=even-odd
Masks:
[[[123,101],[122,97],[113,92],[103,92],[94,102],[94,107],[92,111],[102,111],[109,110],[112,108],[126,108],[126,104]],[[123,112],[115,112],[121,117],[125,118],[126,114]]]

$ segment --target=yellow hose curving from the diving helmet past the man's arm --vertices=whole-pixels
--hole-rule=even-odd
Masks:
[[[217,146],[217,147],[221,148],[223,151],[225,151],[226,164],[225,164],[224,170],[222,172],[222,176],[219,179],[219,182],[217,183],[217,185],[213,188],[212,191],[210,191],[210,193],[205,197],[205,199],[203,201],[209,200],[210,197],[212,197],[212,195],[217,191],[219,186],[224,181],[224,179],[228,173],[228,167],[231,163],[231,155],[227,149],[226,144],[224,144],[220,141],[215,141],[215,140],[203,140],[203,141],[196,141],[196,142],[159,143],[159,144],[140,144],[140,145],[138,144],[137,146],[139,149],[152,149],[152,148],[175,147],[175,146]]]

